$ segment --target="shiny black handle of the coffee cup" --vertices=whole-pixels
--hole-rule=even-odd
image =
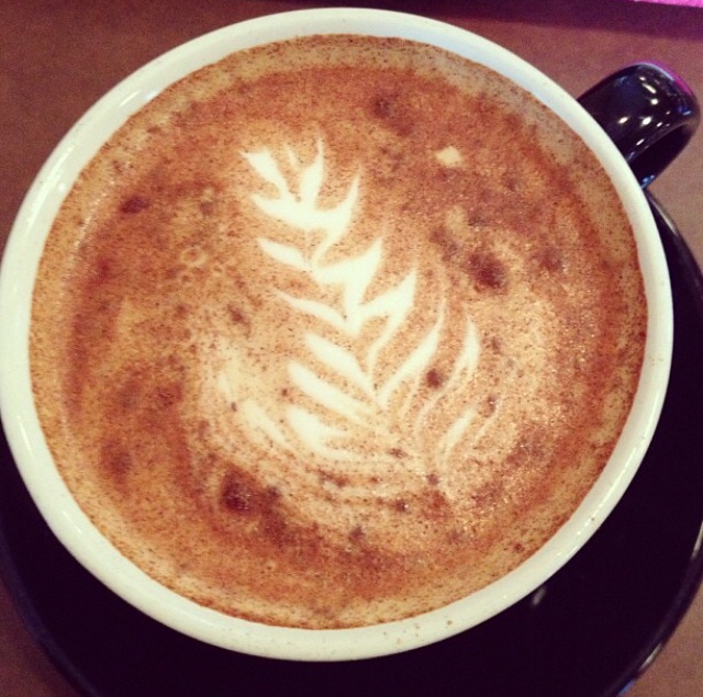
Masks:
[[[648,187],[687,146],[700,121],[689,86],[654,63],[627,66],[578,100]]]

